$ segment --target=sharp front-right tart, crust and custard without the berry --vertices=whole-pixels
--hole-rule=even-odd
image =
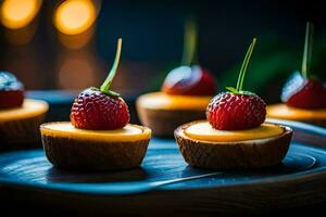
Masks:
[[[291,136],[289,127],[271,123],[253,129],[217,130],[206,120],[198,120],[175,130],[189,165],[215,169],[277,165],[286,156]]]

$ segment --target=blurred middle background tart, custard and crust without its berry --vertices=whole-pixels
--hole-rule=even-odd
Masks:
[[[173,136],[173,131],[185,123],[205,118],[212,97],[152,92],[140,95],[136,106],[140,122],[149,126],[154,135],[166,137]]]

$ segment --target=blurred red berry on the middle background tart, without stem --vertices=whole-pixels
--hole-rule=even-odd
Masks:
[[[213,95],[216,91],[213,76],[200,66],[180,66],[171,71],[162,91],[167,94]]]

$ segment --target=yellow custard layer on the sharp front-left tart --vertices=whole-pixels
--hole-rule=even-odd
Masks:
[[[40,126],[41,135],[91,141],[137,141],[150,139],[147,127],[128,124],[115,130],[88,130],[75,128],[70,122],[48,123]]]

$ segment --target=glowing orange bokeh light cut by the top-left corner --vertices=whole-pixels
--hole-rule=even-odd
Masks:
[[[42,0],[4,0],[1,4],[1,23],[10,29],[27,26],[38,13]]]

